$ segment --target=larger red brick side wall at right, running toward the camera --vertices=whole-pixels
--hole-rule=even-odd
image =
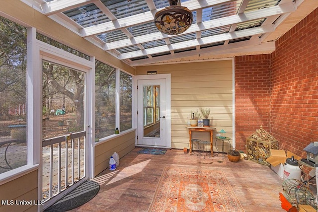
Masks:
[[[271,58],[271,135],[306,157],[318,141],[318,9],[276,41]]]

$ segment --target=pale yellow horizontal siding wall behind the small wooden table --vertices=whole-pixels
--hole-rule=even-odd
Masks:
[[[200,111],[200,108],[211,109],[210,125],[216,127],[214,137],[224,129],[227,136],[233,138],[232,62],[229,59],[136,67],[137,75],[147,74],[147,71],[171,74],[171,148],[188,148],[187,117],[191,110]],[[192,136],[210,141],[208,132],[193,132]]]

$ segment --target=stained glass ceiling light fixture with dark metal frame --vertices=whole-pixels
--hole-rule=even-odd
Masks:
[[[177,35],[191,26],[193,15],[187,7],[178,5],[179,0],[168,1],[170,6],[156,13],[155,25],[164,34]]]

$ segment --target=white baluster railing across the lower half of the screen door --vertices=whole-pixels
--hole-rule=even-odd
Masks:
[[[86,132],[42,142],[42,200],[48,201],[85,177]]]

